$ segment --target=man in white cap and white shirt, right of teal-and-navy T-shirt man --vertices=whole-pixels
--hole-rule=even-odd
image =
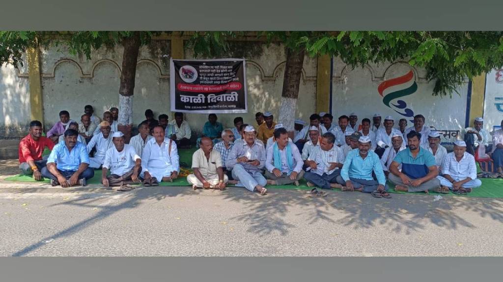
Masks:
[[[442,162],[442,176],[437,176],[443,191],[466,195],[473,188],[482,185],[477,179],[475,158],[466,152],[466,143],[457,140],[454,143],[454,152],[447,154]],[[441,191],[441,192],[443,192]],[[445,192],[444,192],[445,193]]]

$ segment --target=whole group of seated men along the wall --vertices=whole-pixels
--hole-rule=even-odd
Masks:
[[[61,111],[60,122],[47,137],[42,136],[41,122],[32,121],[30,133],[20,143],[21,170],[36,180],[45,177],[53,186],[68,187],[85,186],[94,169],[102,168],[102,183],[125,191],[133,189],[129,185],[133,182],[157,186],[178,178],[178,148],[190,146],[191,134],[183,114],[176,113],[175,121],[168,123],[167,115],[155,120],[147,110],[129,144],[117,130],[117,115],[118,110],[111,109],[101,121],[86,106],[81,123],[75,124],[68,112]],[[422,115],[414,116],[409,128],[406,120],[400,120],[398,129],[391,116],[381,123],[375,114],[372,124],[368,118],[357,124],[352,113],[340,116],[334,126],[330,114],[313,114],[308,126],[295,121],[293,140],[270,112],[257,113],[258,129],[244,124],[241,117],[234,118],[230,129],[222,129],[215,114],[208,119],[198,140],[200,149],[192,158],[194,173],[187,181],[194,189],[223,190],[233,184],[261,195],[267,193],[267,185],[299,185],[302,178],[313,187],[310,197],[326,196],[317,188],[339,188],[390,198],[387,180],[396,191],[466,194],[481,185],[472,154],[488,143],[489,135],[477,118],[473,128],[464,130],[464,140],[457,140],[454,152],[447,154],[440,133],[425,126]],[[493,133],[493,144],[486,147],[498,172],[503,167],[502,130]],[[46,147],[52,151],[43,158]]]

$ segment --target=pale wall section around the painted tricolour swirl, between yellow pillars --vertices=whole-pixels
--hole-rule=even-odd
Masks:
[[[382,96],[378,91],[383,82],[390,83],[391,79],[401,77],[412,71],[410,79],[403,79],[391,87],[385,87]],[[358,114],[359,121],[365,117],[372,120],[374,113],[380,113],[384,120],[386,115],[398,120],[406,118],[408,126],[412,126],[412,117],[406,116],[406,110],[412,115],[423,114],[426,124],[437,130],[461,130],[465,126],[467,115],[468,81],[458,87],[458,93],[451,93],[452,97],[433,96],[434,82],[428,81],[425,69],[410,67],[406,62],[394,62],[382,65],[368,64],[364,68],[351,69],[338,58],[334,58],[332,74],[332,114],[334,117],[351,112]],[[389,106],[383,103],[384,97],[390,93],[404,90],[417,85],[417,89],[409,95],[393,99]],[[390,85],[390,84],[388,84]],[[384,88],[384,87],[383,87]],[[399,100],[406,105],[399,106]],[[442,142],[453,142],[454,132],[444,132]]]

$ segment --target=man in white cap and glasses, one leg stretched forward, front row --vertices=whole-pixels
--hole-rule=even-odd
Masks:
[[[258,191],[261,195],[267,193],[267,185],[262,170],[266,164],[266,150],[264,144],[256,137],[255,128],[247,125],[243,130],[243,138],[237,140],[227,157],[225,166],[232,169],[229,184],[245,187],[251,192]]]

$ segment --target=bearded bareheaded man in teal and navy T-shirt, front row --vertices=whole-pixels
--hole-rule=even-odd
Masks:
[[[440,180],[435,157],[421,148],[421,133],[411,130],[407,133],[408,148],[396,154],[389,167],[388,180],[395,185],[395,191],[428,193],[440,191]],[[398,166],[402,165],[401,171]]]

